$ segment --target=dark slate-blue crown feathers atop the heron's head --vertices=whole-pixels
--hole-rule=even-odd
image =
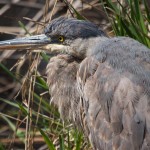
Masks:
[[[59,17],[46,27],[45,34],[63,35],[68,39],[107,36],[95,24],[75,18]]]

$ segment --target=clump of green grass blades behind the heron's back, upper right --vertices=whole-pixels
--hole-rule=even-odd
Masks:
[[[129,36],[150,47],[150,8],[146,0],[105,0],[104,9],[117,36]]]

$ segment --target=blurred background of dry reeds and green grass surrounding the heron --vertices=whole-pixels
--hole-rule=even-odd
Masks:
[[[0,41],[42,33],[59,16],[89,20],[110,37],[150,47],[150,0],[0,0]],[[50,105],[51,57],[39,49],[0,51],[0,150],[92,149]]]

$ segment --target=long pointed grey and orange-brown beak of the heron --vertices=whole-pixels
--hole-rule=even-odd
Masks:
[[[0,50],[11,50],[21,48],[35,48],[50,44],[51,39],[45,34],[30,37],[17,38],[12,40],[0,41]]]

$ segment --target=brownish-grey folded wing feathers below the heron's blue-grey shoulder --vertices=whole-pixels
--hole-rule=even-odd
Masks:
[[[149,135],[150,131],[147,103],[150,100],[145,97],[145,85],[139,81],[139,76],[115,69],[107,62],[98,63],[92,57],[83,62],[79,68],[78,83],[82,85],[83,100],[88,103],[86,121],[90,136],[96,139],[91,140],[94,148],[147,148],[149,136],[145,135]],[[91,65],[93,62],[96,65]],[[84,71],[88,76],[83,75]]]

